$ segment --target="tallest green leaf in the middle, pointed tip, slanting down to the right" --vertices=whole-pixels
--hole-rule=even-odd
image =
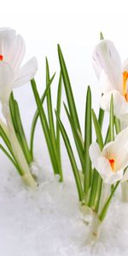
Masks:
[[[79,130],[79,132],[81,133],[81,129],[79,125],[79,117],[78,117],[77,109],[76,109],[74,98],[73,98],[73,90],[72,90],[70,79],[67,73],[66,63],[64,61],[64,57],[62,55],[61,47],[59,44],[58,44],[58,55],[59,55],[59,61],[61,66],[62,79],[63,79],[63,83],[66,90],[67,103],[68,103],[70,115],[73,119],[73,123],[75,124],[76,129]]]

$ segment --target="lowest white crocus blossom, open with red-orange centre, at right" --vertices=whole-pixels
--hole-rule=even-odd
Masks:
[[[100,173],[104,183],[113,184],[119,180],[127,180],[128,173],[128,128],[121,131],[114,142],[108,143],[102,149],[97,143],[90,145],[90,160],[96,171]]]

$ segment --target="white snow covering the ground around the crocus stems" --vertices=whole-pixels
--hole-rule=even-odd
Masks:
[[[68,162],[66,166],[70,167]],[[119,201],[119,193],[102,226],[100,240],[90,247],[86,244],[89,227],[79,212],[73,178],[67,173],[65,182],[59,183],[47,168],[40,166],[39,186],[32,191],[23,185],[9,160],[2,157],[0,255],[127,255],[128,204]]]

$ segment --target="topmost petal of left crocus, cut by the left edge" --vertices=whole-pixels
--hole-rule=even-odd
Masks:
[[[9,55],[9,47],[15,39],[15,30],[10,28],[0,29],[0,55],[3,55],[3,60]]]

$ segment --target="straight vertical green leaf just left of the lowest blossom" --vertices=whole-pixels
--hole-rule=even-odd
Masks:
[[[91,91],[88,86],[85,106],[84,124],[84,192],[87,195],[91,183],[91,161],[89,148],[91,144]]]

